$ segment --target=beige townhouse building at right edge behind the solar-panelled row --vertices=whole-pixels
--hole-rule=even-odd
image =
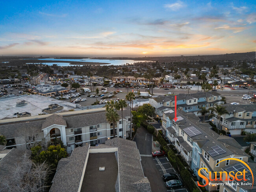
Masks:
[[[256,133],[256,107],[255,105],[223,105],[229,114],[221,116],[219,126],[215,116],[213,124],[220,129],[230,132],[231,135],[241,135],[243,131]]]

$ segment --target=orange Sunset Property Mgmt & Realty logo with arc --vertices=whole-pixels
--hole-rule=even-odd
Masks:
[[[241,162],[242,164],[244,164],[248,170],[250,171],[250,174],[252,174],[252,183],[241,183],[241,185],[252,185],[253,186],[253,182],[254,182],[254,179],[253,179],[253,173],[252,173],[252,170],[251,168],[248,166],[248,164],[240,159],[236,159],[236,158],[227,158],[227,159],[223,159],[221,160],[220,162],[218,162],[216,165],[218,165],[219,163],[223,162],[223,161],[227,161],[227,160],[234,160],[234,161],[239,161]],[[215,166],[216,166],[215,165]],[[208,177],[204,176],[201,174],[201,170],[204,170],[204,172],[208,173],[209,175],[209,179]],[[209,180],[210,181],[247,181],[248,179],[245,178],[245,174],[247,173],[248,171],[246,171],[245,169],[243,169],[243,171],[237,171],[237,172],[234,172],[234,171],[230,171],[229,173],[227,173],[226,171],[220,171],[220,172],[209,172],[207,168],[200,168],[198,170],[198,176],[201,177],[202,179],[204,179],[206,181],[206,184],[205,185],[200,185],[200,183],[197,181],[197,185],[198,186],[206,186],[206,185],[217,185],[217,183],[209,183]],[[217,178],[217,173],[219,173],[219,178]],[[225,174],[226,177],[225,178],[222,178],[222,174]],[[211,179],[211,175],[212,174],[215,174],[215,177],[214,179]],[[243,179],[239,179],[237,176],[243,176]],[[224,180],[223,180],[224,179]],[[224,184],[224,183],[223,183]],[[237,183],[237,185],[239,185],[239,183]]]

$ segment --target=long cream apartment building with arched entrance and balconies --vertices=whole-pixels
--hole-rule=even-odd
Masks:
[[[60,138],[70,153],[74,148],[104,144],[106,140],[114,137],[126,138],[130,135],[130,111],[118,111],[119,121],[113,124],[106,120],[106,112],[86,113],[86,111],[73,111],[60,114],[48,114],[15,118],[9,121],[0,120],[0,135],[7,140],[6,148],[26,149],[34,140]],[[122,129],[123,124],[123,129]]]

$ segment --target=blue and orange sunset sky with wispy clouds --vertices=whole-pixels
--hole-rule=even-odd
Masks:
[[[255,10],[255,0],[2,0],[0,55],[251,52],[256,47]]]

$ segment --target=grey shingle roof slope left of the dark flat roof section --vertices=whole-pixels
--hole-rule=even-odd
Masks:
[[[49,192],[77,192],[79,185],[82,186],[83,168],[86,166],[89,144],[75,148],[72,155],[62,158],[57,166],[56,174],[52,180]]]

